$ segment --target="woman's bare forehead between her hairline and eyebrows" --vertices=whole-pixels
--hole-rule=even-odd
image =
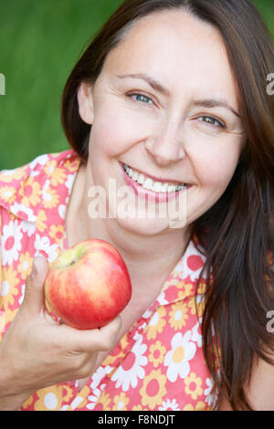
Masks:
[[[236,86],[219,30],[189,13],[164,10],[137,20],[107,56],[103,72],[146,73],[178,90],[201,90],[203,96],[230,99]],[[201,95],[201,94],[199,94]]]

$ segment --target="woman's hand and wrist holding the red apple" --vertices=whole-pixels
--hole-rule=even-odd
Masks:
[[[87,377],[97,352],[118,340],[120,317],[98,330],[56,323],[45,307],[47,269],[46,259],[35,257],[22,306],[0,343],[0,410],[17,409],[43,387]]]

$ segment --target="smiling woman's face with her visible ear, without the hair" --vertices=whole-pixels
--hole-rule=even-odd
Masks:
[[[214,205],[245,141],[222,37],[179,10],[145,16],[132,26],[94,86],[80,86],[79,114],[92,123],[93,184],[111,197],[109,211],[119,224],[142,235],[181,228],[182,219],[190,225]],[[126,173],[125,165],[131,168]],[[140,203],[137,216],[117,212],[122,194],[114,201],[109,179],[117,192],[127,189],[128,213]],[[179,195],[181,221],[171,222],[174,214],[150,218],[155,205],[166,208]],[[153,198],[153,209],[143,206]]]

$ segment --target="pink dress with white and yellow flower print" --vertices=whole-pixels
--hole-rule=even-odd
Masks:
[[[0,339],[22,303],[33,257],[42,253],[50,263],[67,248],[66,208],[79,164],[68,150],[0,173]],[[81,390],[78,381],[40,389],[20,410],[211,410],[216,397],[202,350],[203,287],[195,298],[204,263],[191,241],[159,296]]]

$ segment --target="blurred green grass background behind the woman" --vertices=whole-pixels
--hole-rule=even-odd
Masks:
[[[274,0],[254,3],[274,35]],[[83,48],[120,4],[0,0],[0,170],[69,149],[59,115],[63,87]]]

